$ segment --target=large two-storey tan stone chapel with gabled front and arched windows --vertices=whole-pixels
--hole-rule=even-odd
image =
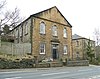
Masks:
[[[15,43],[30,43],[39,60],[72,58],[72,26],[56,6],[31,15],[10,34]]]

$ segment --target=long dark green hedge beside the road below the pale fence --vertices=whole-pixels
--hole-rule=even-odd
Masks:
[[[16,68],[32,68],[34,59],[10,60],[7,58],[0,58],[0,69],[16,69]]]

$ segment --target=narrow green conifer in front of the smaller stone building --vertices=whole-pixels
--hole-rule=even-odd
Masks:
[[[86,54],[89,57],[90,62],[92,62],[92,59],[95,57],[94,50],[92,48],[93,47],[92,47],[91,41],[89,39],[88,44],[87,44],[87,47],[86,47]]]

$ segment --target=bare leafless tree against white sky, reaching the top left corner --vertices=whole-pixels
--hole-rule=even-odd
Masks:
[[[11,29],[13,29],[16,27],[16,25],[22,22],[22,18],[20,17],[20,10],[15,8],[13,11],[4,11],[4,6],[6,6],[6,0],[0,2],[0,30],[1,27],[4,27],[5,25],[8,25]]]

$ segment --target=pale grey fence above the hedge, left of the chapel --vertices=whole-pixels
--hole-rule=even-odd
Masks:
[[[1,42],[0,53],[10,54],[10,55],[25,55],[31,53],[31,43],[11,43],[11,42]]]

